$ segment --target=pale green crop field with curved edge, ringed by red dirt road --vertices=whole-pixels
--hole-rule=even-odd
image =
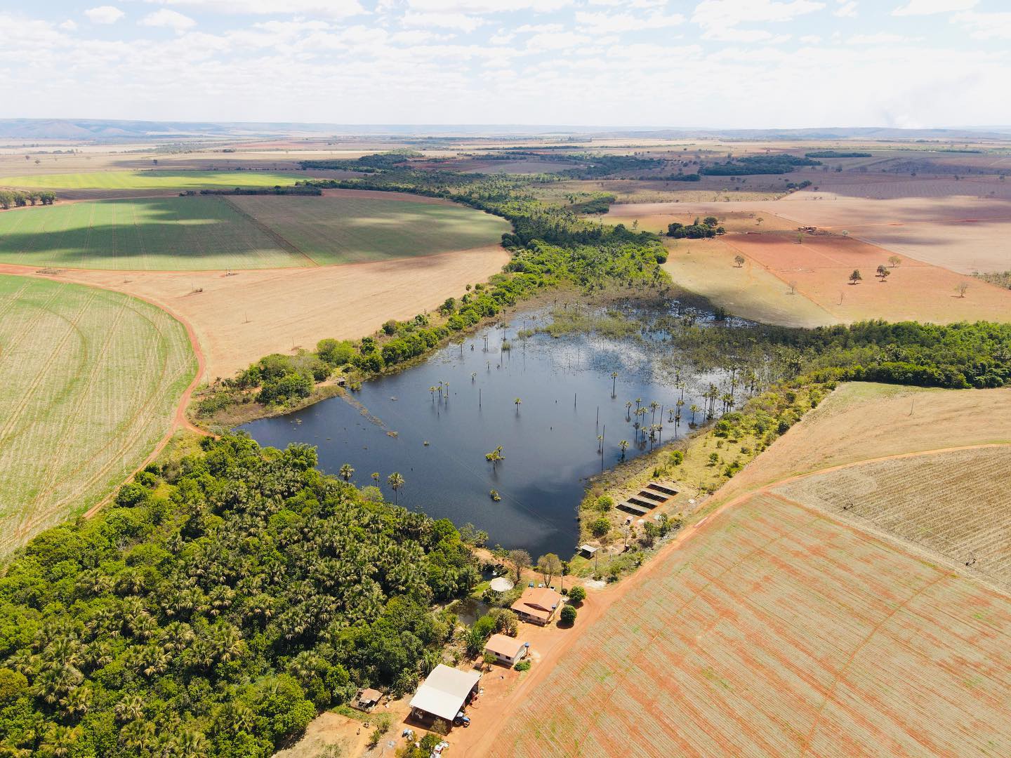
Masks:
[[[195,371],[185,328],[153,305],[0,275],[0,554],[121,484]]]

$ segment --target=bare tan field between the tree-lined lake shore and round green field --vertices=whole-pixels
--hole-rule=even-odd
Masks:
[[[221,272],[66,270],[56,279],[139,295],[189,323],[206,358],[204,379],[228,377],[268,353],[357,339],[389,318],[432,310],[510,260],[498,246],[399,261],[315,269]],[[3,267],[24,273],[21,267]],[[34,271],[31,269],[30,271]],[[196,290],[202,290],[197,292]]]

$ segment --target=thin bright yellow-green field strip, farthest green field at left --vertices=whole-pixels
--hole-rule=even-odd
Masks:
[[[0,187],[32,189],[231,189],[289,186],[312,176],[283,171],[92,171],[0,177]]]

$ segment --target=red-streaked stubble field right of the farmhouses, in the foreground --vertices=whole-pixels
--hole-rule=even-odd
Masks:
[[[1011,752],[1006,596],[768,493],[657,562],[486,754]]]

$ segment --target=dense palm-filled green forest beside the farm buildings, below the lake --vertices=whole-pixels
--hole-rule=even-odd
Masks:
[[[267,756],[360,685],[409,691],[478,579],[448,520],[209,438],[0,578],[0,753]]]

